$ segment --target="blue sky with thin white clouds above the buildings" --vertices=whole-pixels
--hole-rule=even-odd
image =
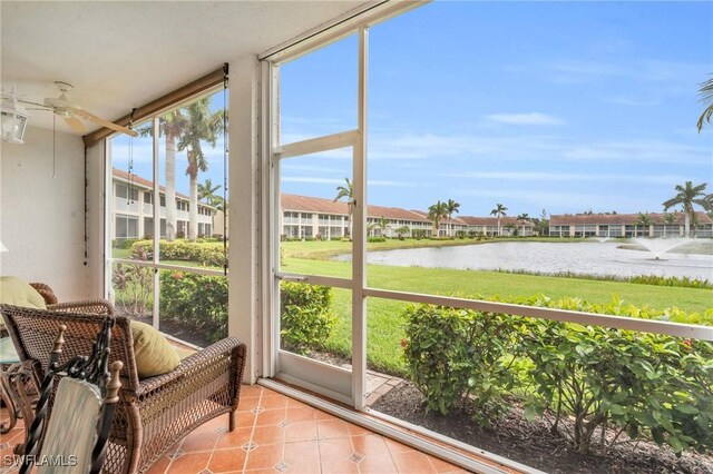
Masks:
[[[427,4],[370,30],[369,201],[538,216],[661,211],[685,180],[713,192],[712,128],[695,129],[712,72],[711,2]],[[354,37],[281,78],[283,142],[355,127]],[[332,198],[350,156],[285,160],[282,189]]]

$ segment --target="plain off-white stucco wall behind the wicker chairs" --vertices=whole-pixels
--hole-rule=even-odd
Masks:
[[[0,148],[0,275],[50,285],[60,300],[88,297],[81,137],[28,127]]]

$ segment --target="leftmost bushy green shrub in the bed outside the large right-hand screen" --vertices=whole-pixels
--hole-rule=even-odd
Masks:
[[[443,306],[408,306],[402,342],[408,374],[427,411],[448,414],[469,401],[481,424],[506,409],[514,383],[512,317]]]

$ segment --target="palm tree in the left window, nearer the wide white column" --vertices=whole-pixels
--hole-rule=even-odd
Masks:
[[[203,154],[202,141],[215,148],[217,136],[223,131],[223,110],[211,112],[211,97],[204,97],[189,103],[184,109],[188,121],[183,135],[178,139],[178,151],[186,150],[189,178],[191,207],[188,209],[188,238],[197,237],[198,224],[198,172],[208,170],[208,162]]]

